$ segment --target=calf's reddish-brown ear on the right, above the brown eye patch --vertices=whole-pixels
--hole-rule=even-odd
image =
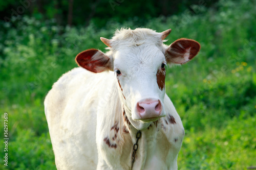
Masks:
[[[200,44],[192,39],[181,38],[174,41],[165,51],[167,63],[185,64],[193,59],[200,50]]]

